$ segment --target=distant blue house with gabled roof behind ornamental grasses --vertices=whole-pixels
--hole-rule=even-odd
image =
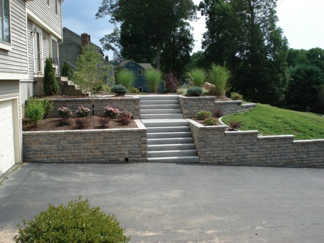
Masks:
[[[118,59],[112,61],[113,63],[118,63]],[[140,92],[145,92],[148,90],[146,85],[146,80],[144,78],[144,71],[152,69],[150,63],[137,63],[134,60],[125,60],[117,64],[116,66],[124,67],[126,69],[132,70],[136,74],[136,79],[134,82],[134,87],[137,88]]]

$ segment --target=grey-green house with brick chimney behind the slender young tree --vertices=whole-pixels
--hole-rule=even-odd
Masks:
[[[59,54],[61,67],[63,65],[63,62],[66,61],[72,69],[76,68],[77,57],[80,54],[82,54],[83,46],[94,46],[97,52],[104,56],[102,49],[91,42],[90,34],[83,33],[81,35],[78,35],[66,27],[63,27],[62,32],[63,39],[59,40]],[[111,63],[108,62],[108,60],[103,58],[101,59],[101,63],[102,65],[111,65]],[[107,85],[112,86],[114,84],[113,68],[109,70],[107,78]]]

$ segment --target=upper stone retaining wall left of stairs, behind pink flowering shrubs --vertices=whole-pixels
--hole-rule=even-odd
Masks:
[[[50,117],[58,117],[57,109],[61,106],[68,107],[73,114],[79,106],[86,106],[92,113],[92,101],[89,98],[77,99],[51,99],[54,108]],[[134,119],[140,118],[140,98],[139,97],[103,97],[95,99],[95,114],[102,115],[105,106],[111,106],[119,110],[127,110],[133,114]]]

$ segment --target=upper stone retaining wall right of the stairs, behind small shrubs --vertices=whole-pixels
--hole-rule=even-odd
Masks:
[[[179,96],[179,103],[184,118],[194,117],[199,110],[214,112],[216,109],[222,109],[224,115],[230,115],[250,110],[256,106],[254,103],[245,104],[241,100],[217,101],[217,98],[212,96]]]

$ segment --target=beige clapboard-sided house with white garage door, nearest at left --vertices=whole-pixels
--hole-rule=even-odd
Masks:
[[[62,0],[0,0],[0,173],[22,161],[24,102],[58,58]]]

